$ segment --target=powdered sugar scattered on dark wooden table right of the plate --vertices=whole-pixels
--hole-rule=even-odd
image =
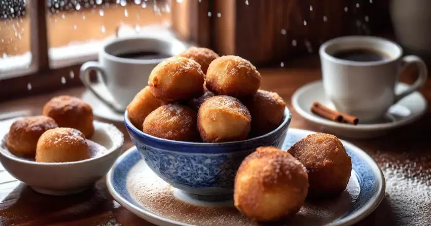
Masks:
[[[386,179],[385,198],[376,210],[376,225],[429,225],[431,216],[431,158],[403,161],[377,152]]]

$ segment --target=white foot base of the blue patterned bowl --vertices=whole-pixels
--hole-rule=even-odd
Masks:
[[[233,207],[233,194],[218,196],[202,196],[173,189],[173,196],[185,203],[203,207]]]

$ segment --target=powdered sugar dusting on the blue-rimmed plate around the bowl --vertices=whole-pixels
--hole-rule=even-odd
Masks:
[[[177,200],[174,188],[154,174],[141,160],[129,172],[128,191],[143,208],[162,217],[194,225],[259,225],[246,218],[234,207],[199,207]],[[337,219],[355,202],[359,187],[352,174],[347,189],[330,201],[306,203],[291,220],[277,225],[320,225]]]

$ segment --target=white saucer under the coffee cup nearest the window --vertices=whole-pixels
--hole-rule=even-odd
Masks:
[[[101,84],[94,85],[94,88],[99,90],[107,98],[112,98],[111,94],[106,90],[106,88]],[[124,113],[119,113],[112,110],[110,107],[101,102],[96,96],[88,89],[84,91],[81,96],[84,102],[87,102],[93,108],[94,116],[103,118],[110,121],[122,122],[124,119]]]

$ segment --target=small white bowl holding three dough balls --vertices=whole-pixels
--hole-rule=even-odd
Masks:
[[[37,163],[9,152],[5,145],[6,134],[2,134],[0,162],[13,177],[37,192],[54,196],[81,192],[105,176],[124,144],[123,134],[113,124],[94,121],[94,129],[91,141],[107,149],[100,156],[77,162]]]

